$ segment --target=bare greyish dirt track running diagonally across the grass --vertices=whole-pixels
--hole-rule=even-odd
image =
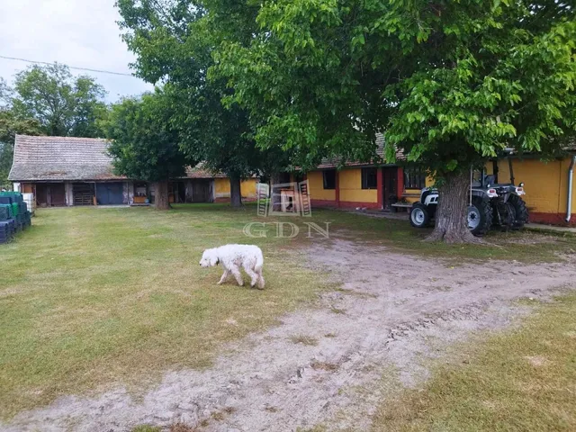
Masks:
[[[430,359],[447,359],[450,344],[509,325],[529,311],[514,300],[549,298],[576,276],[572,262],[454,267],[343,239],[319,242],[307,257],[341,289],[231,344],[211,369],[168,373],[138,399],[122,388],[69,396],[0,429],[112,432],[184,422],[202,431],[366,430],[374,405],[425,380]]]

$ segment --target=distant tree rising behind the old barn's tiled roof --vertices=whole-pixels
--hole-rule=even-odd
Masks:
[[[39,121],[46,135],[101,135],[98,120],[106,114],[106,92],[90,76],[72,76],[67,66],[58,63],[34,65],[16,75],[13,93],[14,112]]]

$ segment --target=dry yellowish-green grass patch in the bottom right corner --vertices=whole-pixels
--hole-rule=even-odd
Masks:
[[[576,430],[575,317],[572,294],[518,329],[458,347],[462,365],[384,402],[373,431]]]

